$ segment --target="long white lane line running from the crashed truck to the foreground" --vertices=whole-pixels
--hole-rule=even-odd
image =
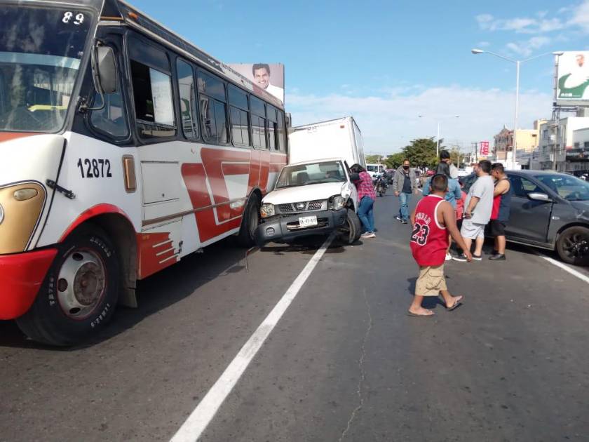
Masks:
[[[325,240],[325,243],[323,243],[319,250],[316,251],[315,255],[311,257],[311,260],[307,262],[302,272],[297,276],[297,279],[292,281],[288,290],[280,298],[278,304],[274,306],[272,311],[266,316],[266,319],[262,321],[248,342],[243,344],[239,353],[229,363],[229,366],[227,366],[221,377],[210,388],[201,403],[189,415],[186,422],[182,424],[182,427],[170,439],[170,442],[194,442],[201,437],[201,434],[203,434],[203,431],[205,431],[210,421],[212,421],[212,418],[215,417],[217,410],[222,406],[226,397],[229,396],[229,393],[231,393],[231,390],[233,390],[233,387],[235,387],[239,378],[245,372],[245,369],[248,368],[248,365],[250,365],[250,362],[256,356],[257,351],[262,347],[262,344],[264,344],[264,341],[270,335],[278,321],[280,321],[280,318],[286,312],[292,300],[297,297],[299,290],[301,290],[303,284],[309,278],[309,275],[311,275],[311,272],[313,272],[313,269],[315,269],[333,239],[334,235],[332,234]]]

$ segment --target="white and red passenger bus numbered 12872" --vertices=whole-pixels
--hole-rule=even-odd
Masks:
[[[252,243],[283,105],[118,0],[0,0],[0,319],[67,345],[138,279]]]

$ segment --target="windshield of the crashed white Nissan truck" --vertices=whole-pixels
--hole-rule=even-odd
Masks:
[[[276,189],[346,180],[346,172],[341,161],[299,164],[283,168],[276,182]]]

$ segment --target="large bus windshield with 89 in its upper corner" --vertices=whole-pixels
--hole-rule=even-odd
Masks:
[[[60,130],[92,21],[76,8],[0,8],[0,130]]]

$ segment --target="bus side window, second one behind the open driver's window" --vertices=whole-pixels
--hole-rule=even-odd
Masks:
[[[229,143],[225,85],[215,76],[198,71],[198,95],[203,138],[218,145]]]

